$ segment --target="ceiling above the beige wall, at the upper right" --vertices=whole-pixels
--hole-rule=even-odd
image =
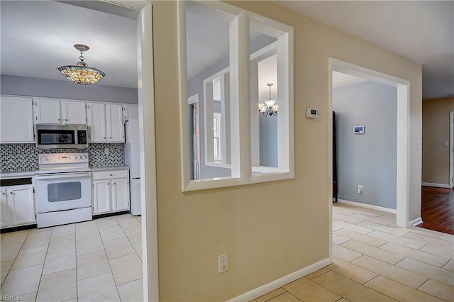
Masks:
[[[454,1],[275,1],[423,65],[423,99],[454,94]]]

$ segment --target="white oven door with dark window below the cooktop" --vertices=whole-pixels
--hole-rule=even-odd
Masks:
[[[38,213],[92,206],[90,172],[40,174],[36,176]]]

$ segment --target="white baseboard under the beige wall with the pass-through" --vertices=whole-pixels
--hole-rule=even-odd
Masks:
[[[271,281],[268,284],[262,285],[257,289],[253,289],[252,291],[248,291],[247,293],[243,293],[240,296],[236,296],[235,298],[231,298],[228,302],[240,302],[240,301],[251,301],[255,298],[265,295],[265,293],[269,293],[270,291],[274,291],[275,289],[279,289],[279,287],[284,286],[285,284],[289,284],[292,281],[295,281],[307,274],[311,274],[322,267],[326,267],[327,265],[331,264],[331,259],[326,258],[319,262],[309,265],[309,267],[304,267],[303,269],[299,269],[297,272],[293,272],[292,274],[288,274],[287,276],[283,276],[275,281]]]

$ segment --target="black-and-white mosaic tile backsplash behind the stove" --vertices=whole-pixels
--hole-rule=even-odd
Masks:
[[[109,148],[109,154],[105,149]],[[88,149],[37,150],[35,144],[0,144],[1,173],[35,171],[38,169],[38,154],[60,152],[88,152],[90,167],[123,165],[123,144],[89,144]]]

